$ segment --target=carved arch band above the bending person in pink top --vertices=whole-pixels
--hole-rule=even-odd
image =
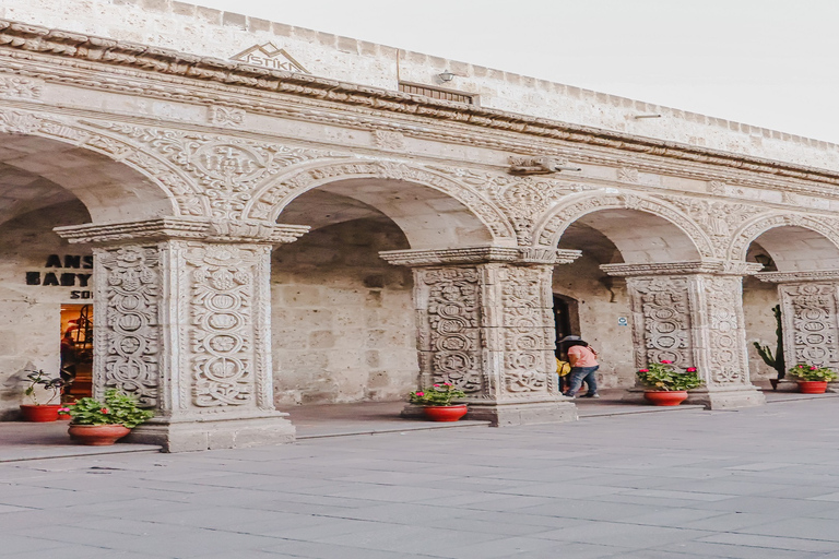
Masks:
[[[566,197],[536,224],[534,246],[556,247],[569,225],[603,210],[637,210],[660,217],[684,233],[699,257],[719,257],[705,231],[684,212],[661,200],[626,192],[582,192]]]

